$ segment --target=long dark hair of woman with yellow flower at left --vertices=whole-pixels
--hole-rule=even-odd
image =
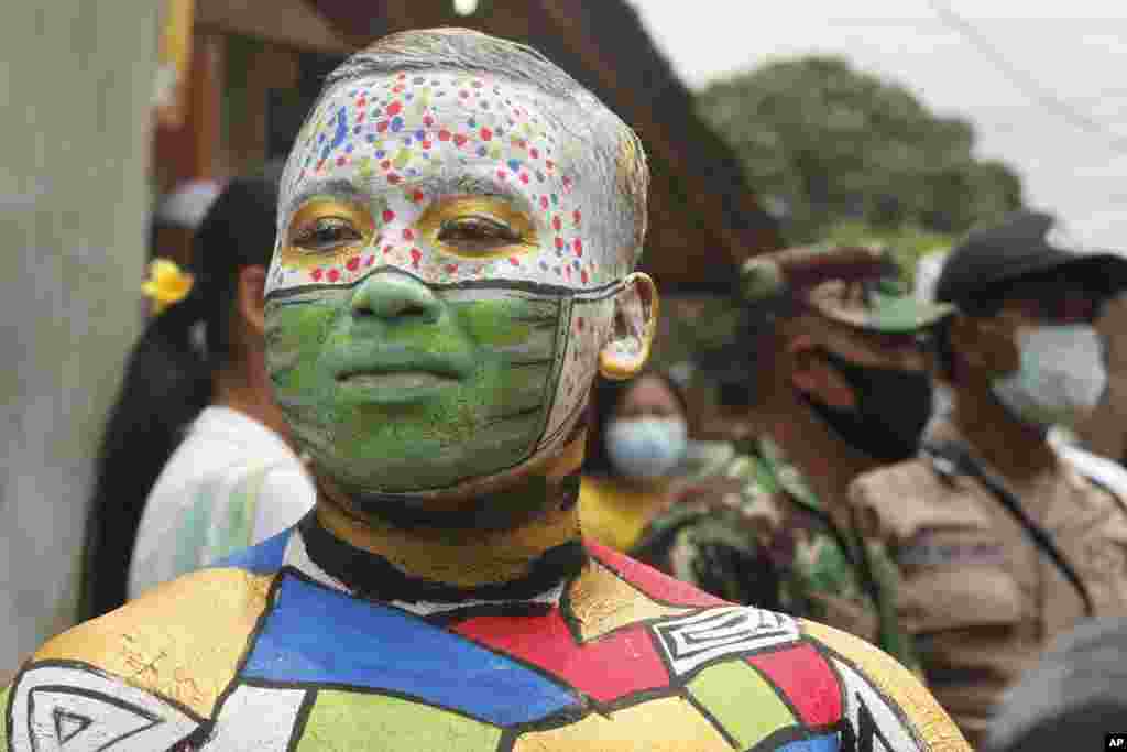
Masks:
[[[224,188],[193,241],[192,292],[153,317],[128,355],[97,457],[82,619],[125,602],[130,559],[149,492],[187,425],[212,400],[214,373],[234,354],[230,331],[239,271],[269,265],[278,174],[279,166],[272,165]]]

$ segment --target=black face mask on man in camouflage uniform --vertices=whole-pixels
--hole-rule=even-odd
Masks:
[[[926,373],[858,365],[823,351],[826,361],[853,388],[855,408],[831,407],[799,392],[818,417],[845,443],[875,460],[899,462],[915,457],[931,418],[932,386]]]

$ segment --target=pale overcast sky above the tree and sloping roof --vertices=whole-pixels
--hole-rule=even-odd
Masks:
[[[971,121],[980,154],[1015,168],[1027,202],[1061,216],[1083,245],[1127,250],[1127,3],[944,2],[1038,89],[1091,122],[1082,127],[1015,85],[929,0],[631,2],[694,88],[777,57],[845,54],[933,110]]]

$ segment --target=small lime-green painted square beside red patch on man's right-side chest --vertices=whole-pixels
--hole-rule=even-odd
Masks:
[[[751,749],[769,734],[797,723],[771,684],[744,661],[706,669],[689,682],[689,691],[740,749]]]

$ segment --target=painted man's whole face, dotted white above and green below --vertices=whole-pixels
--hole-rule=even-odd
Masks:
[[[400,73],[338,88],[299,135],[267,364],[350,493],[456,488],[575,425],[633,248],[614,160],[561,112],[579,118],[508,81]]]

